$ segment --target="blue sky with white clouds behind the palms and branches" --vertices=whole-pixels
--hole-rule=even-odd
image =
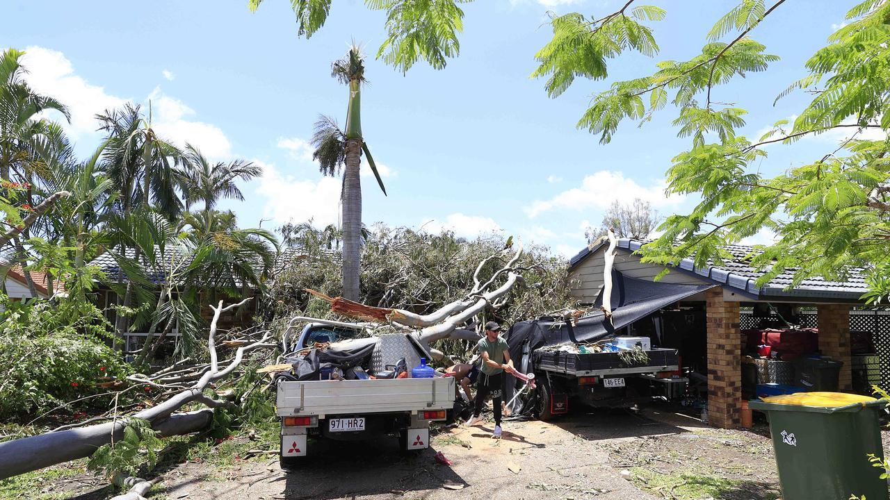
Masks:
[[[72,109],[69,131],[82,156],[98,145],[95,113],[151,101],[155,125],[169,139],[191,141],[216,159],[263,165],[263,178],[244,186],[247,199],[223,207],[242,225],[263,220],[268,228],[291,219],[337,220],[340,181],[321,177],[307,141],[319,113],[344,121],[347,91],[329,68],[355,39],[370,56],[362,129],[389,192],[384,197],[373,177],[362,178],[364,221],[446,227],[470,237],[500,230],[570,255],[586,243],[584,226],[597,225],[616,198],[647,199],[664,215],[694,203],[663,194],[670,158],[689,147],[670,125],[675,109],[641,128],[627,122],[604,146],[575,124],[589,95],[611,81],[699,53],[708,29],[735,4],[638,0],[667,10],[667,19],[653,25],[659,55],[613,60],[606,82],[577,80],[560,98],[547,98],[544,81],[529,77],[534,53],[551,36],[546,12],[599,18],[623,3],[476,0],[465,5],[460,56],[439,71],[418,63],[407,76],[373,59],[384,40],[384,14],[360,0],[336,1],[310,40],[296,36],[286,0],[265,0],[253,14],[247,0],[150,7],[14,0],[0,18],[0,47],[28,50],[29,81]],[[803,108],[805,94],[775,106],[773,99],[805,75],[805,60],[853,4],[788,2],[756,28],[752,36],[781,61],[715,91],[717,101],[748,109],[749,137]],[[758,167],[775,173],[813,161],[840,139],[825,134],[771,146]]]

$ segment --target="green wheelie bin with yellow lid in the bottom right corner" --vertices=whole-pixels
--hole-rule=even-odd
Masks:
[[[841,392],[797,392],[748,402],[765,411],[783,500],[888,500],[878,412],[885,400]]]

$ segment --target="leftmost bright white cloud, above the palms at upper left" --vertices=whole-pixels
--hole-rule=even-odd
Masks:
[[[49,95],[68,106],[71,124],[68,132],[75,140],[96,134],[95,115],[124,105],[125,99],[105,92],[77,76],[65,54],[44,47],[29,46],[21,64],[27,69],[25,79],[37,93]],[[49,116],[62,121],[56,114]]]

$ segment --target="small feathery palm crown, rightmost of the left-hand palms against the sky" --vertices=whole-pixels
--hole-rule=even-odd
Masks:
[[[182,160],[180,184],[186,210],[196,201],[203,201],[205,210],[213,210],[220,198],[244,201],[235,181],[250,181],[263,173],[259,165],[245,160],[213,163],[188,143]]]

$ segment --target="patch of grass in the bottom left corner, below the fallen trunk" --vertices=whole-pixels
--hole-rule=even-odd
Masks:
[[[85,485],[71,480],[86,471],[86,459],[53,465],[35,472],[26,472],[8,480],[0,480],[0,498],[28,498],[31,500],[59,500],[76,493],[77,486]],[[88,478],[84,478],[85,482]],[[65,488],[71,483],[72,488]],[[54,487],[47,491],[47,487]],[[90,488],[94,489],[94,488]],[[109,491],[111,487],[108,487]]]

